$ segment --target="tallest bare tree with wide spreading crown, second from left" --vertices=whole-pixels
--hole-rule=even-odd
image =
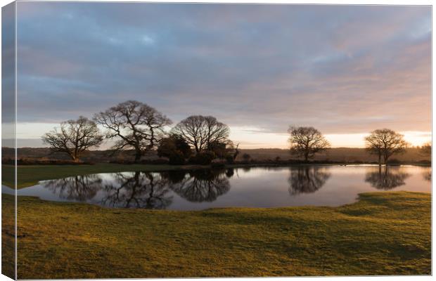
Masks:
[[[165,135],[165,126],[172,123],[158,110],[136,100],[128,100],[97,113],[94,120],[108,129],[106,138],[117,140],[113,149],[135,151],[135,162],[155,148]]]

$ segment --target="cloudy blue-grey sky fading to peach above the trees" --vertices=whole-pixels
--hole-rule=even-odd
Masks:
[[[374,129],[431,138],[430,6],[18,2],[19,146],[139,100],[174,125],[213,115],[241,148],[289,126],[333,147]]]

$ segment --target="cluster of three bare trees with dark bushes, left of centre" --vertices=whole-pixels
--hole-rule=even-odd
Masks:
[[[157,150],[172,164],[184,164],[186,159],[209,164],[212,159],[229,161],[238,155],[237,145],[229,140],[230,129],[212,116],[193,115],[170,129],[172,121],[155,108],[128,100],[98,112],[93,119],[79,117],[62,122],[59,128],[42,136],[53,151],[65,152],[75,162],[90,148],[97,148],[104,140],[113,140],[115,152],[134,151],[134,162],[146,153]],[[98,125],[105,129],[101,132]]]

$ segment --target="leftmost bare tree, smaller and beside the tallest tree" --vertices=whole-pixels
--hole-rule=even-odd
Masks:
[[[96,123],[83,116],[60,123],[60,128],[54,128],[41,138],[51,146],[53,152],[65,152],[75,162],[79,161],[83,152],[97,147],[103,141]]]

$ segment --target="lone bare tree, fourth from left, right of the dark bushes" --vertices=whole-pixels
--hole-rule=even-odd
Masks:
[[[290,133],[290,152],[298,157],[304,157],[306,162],[316,153],[330,148],[330,143],[314,127],[291,126],[288,133]]]

